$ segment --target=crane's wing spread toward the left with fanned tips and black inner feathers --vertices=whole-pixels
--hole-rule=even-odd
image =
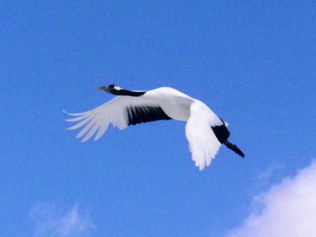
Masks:
[[[93,110],[80,114],[67,114],[77,116],[77,118],[65,119],[66,121],[79,122],[67,129],[72,130],[84,126],[76,136],[76,138],[80,138],[87,133],[81,142],[90,139],[96,132],[94,140],[98,140],[108,129],[110,123],[123,130],[129,125],[137,123],[171,119],[155,101],[131,96],[116,96]]]

